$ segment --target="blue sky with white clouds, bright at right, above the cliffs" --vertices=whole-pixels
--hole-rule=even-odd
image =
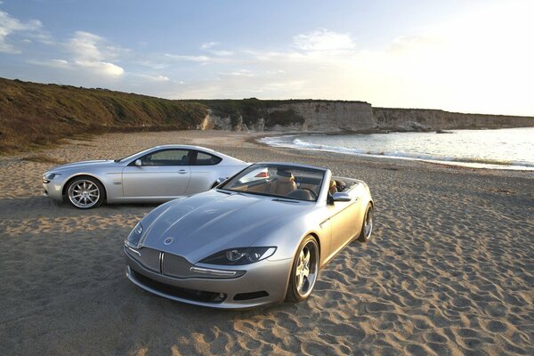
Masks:
[[[0,0],[0,77],[534,116],[534,1]]]

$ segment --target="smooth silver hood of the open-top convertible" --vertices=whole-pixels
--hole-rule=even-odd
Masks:
[[[191,263],[226,248],[249,247],[267,232],[312,208],[309,202],[287,202],[251,194],[209,190],[177,199],[145,226],[143,247],[182,255]],[[174,242],[165,245],[165,239]]]

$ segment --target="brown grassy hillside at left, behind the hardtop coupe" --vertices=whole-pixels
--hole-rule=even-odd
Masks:
[[[76,134],[191,129],[206,113],[199,102],[0,78],[0,152],[28,150]]]

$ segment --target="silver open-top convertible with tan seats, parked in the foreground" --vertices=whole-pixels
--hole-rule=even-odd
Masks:
[[[204,306],[300,302],[320,269],[372,230],[365,182],[316,166],[258,163],[147,214],[125,239],[126,276]]]

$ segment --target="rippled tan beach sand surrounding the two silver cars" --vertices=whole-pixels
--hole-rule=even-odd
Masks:
[[[257,136],[257,134],[256,134]],[[247,161],[368,182],[376,229],[312,297],[219,311],[125,278],[125,236],[154,206],[80,211],[41,196],[53,166],[0,158],[0,354],[534,354],[534,175],[272,149],[252,134],[106,134],[40,152],[68,161],[196,143]]]

